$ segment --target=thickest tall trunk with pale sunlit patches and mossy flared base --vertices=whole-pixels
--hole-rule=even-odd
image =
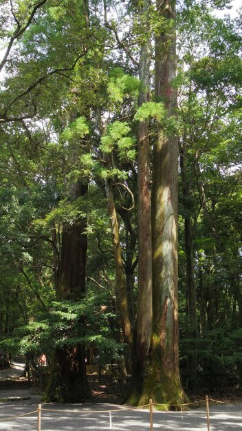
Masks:
[[[155,41],[155,95],[157,101],[164,102],[169,118],[175,115],[177,103],[173,89],[175,1],[159,1],[157,8],[165,23],[164,32]],[[166,403],[167,408],[186,399],[179,377],[178,354],[177,162],[175,134],[159,129],[153,150],[153,334],[140,403],[150,397]]]

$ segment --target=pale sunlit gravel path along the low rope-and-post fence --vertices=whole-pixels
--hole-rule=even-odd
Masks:
[[[10,370],[12,374],[13,370]],[[14,371],[20,373],[21,370]],[[0,390],[0,430],[36,431],[41,397],[30,390]],[[43,404],[41,431],[148,431],[148,409],[126,409],[113,404]],[[26,416],[21,416],[27,414]],[[21,416],[21,417],[20,417]],[[153,412],[153,430],[207,431],[205,408],[189,412]],[[242,405],[210,406],[210,431],[241,431]]]

